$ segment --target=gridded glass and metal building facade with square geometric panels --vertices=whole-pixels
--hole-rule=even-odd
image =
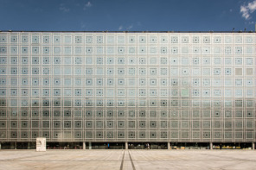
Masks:
[[[255,33],[0,32],[0,142],[255,142]]]

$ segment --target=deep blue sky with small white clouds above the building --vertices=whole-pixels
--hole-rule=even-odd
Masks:
[[[0,30],[255,30],[256,0],[0,0]]]

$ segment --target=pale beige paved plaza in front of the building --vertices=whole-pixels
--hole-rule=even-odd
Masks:
[[[253,150],[1,150],[0,169],[255,169]]]

